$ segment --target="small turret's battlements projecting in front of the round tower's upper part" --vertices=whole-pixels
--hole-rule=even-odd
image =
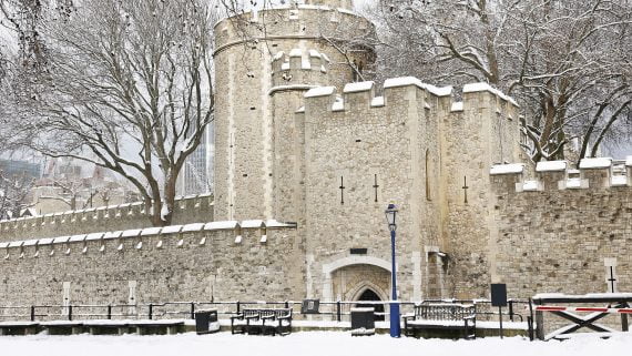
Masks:
[[[327,54],[316,50],[277,52],[272,59],[272,92],[296,85],[313,88],[326,83],[330,62]]]

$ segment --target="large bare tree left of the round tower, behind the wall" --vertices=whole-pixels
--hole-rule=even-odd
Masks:
[[[212,24],[203,0],[84,0],[43,26],[45,75],[21,99],[29,146],[110,169],[169,225],[179,174],[213,120]]]

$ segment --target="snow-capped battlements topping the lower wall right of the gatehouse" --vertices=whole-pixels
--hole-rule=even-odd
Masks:
[[[569,169],[567,161],[539,162],[536,177],[527,179],[523,173],[523,164],[499,164],[490,170],[501,192],[626,189],[632,187],[632,156],[626,161],[583,159],[579,170]]]

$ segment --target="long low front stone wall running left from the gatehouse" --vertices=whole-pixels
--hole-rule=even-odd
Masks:
[[[300,299],[296,228],[259,224],[220,222],[175,234],[165,227],[159,234],[0,246],[2,305],[61,305],[64,283],[74,305],[126,304],[130,282],[137,303]]]

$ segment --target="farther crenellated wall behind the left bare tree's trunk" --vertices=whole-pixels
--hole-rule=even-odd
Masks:
[[[119,228],[150,225],[150,211],[142,202],[93,207],[0,221],[0,242],[31,237],[51,237],[53,234],[74,235],[93,233],[115,225]],[[183,196],[176,200],[173,222],[176,224],[213,220],[213,199],[210,194]]]

